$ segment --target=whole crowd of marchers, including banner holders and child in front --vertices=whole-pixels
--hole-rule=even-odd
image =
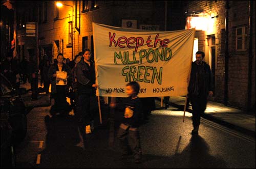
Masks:
[[[196,53],[196,61],[192,63],[188,85],[188,96],[193,108],[192,134],[198,134],[200,117],[206,109],[207,96],[213,94],[211,70],[209,65],[203,61],[204,56],[202,51]],[[73,61],[65,59],[62,53],[58,53],[53,64],[44,57],[39,62],[39,70],[33,60],[27,61],[24,58],[18,63],[16,59],[13,59],[12,53],[8,53],[6,60],[1,62],[1,73],[14,87],[19,88],[20,83],[26,83],[27,80],[31,83],[32,100],[36,99],[39,72],[41,86],[44,84],[44,92],[49,93],[51,84],[51,98],[54,99],[54,105],[51,107],[52,115],[67,115],[70,105],[66,97],[69,95],[75,116],[78,117],[79,131],[84,139],[85,134],[94,130],[94,109],[91,108],[90,100],[95,97],[95,91],[98,88],[95,83],[95,65],[90,49],[79,52]],[[126,85],[128,97],[120,104],[110,104],[110,107],[118,107],[124,112],[117,138],[120,141],[123,156],[129,154],[127,137],[133,140],[131,148],[136,163],[141,162],[142,154],[138,131],[140,120],[143,119],[144,122],[148,120],[147,115],[155,109],[154,98],[138,98],[139,90],[139,83],[131,81]],[[169,98],[165,97],[164,100],[167,109]]]

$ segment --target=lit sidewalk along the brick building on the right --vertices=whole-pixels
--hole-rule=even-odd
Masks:
[[[169,99],[169,104],[184,110],[185,99],[183,96],[172,96]],[[188,107],[186,111],[192,112],[192,107]],[[255,137],[255,116],[248,115],[240,109],[208,101],[203,118]]]

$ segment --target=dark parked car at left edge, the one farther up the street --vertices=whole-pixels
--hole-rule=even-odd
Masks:
[[[22,141],[27,133],[27,111],[25,104],[9,80],[1,74],[1,114],[7,113],[12,127],[12,140]]]

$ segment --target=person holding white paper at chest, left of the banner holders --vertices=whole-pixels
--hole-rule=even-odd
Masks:
[[[52,110],[56,112],[56,115],[65,116],[70,110],[66,98],[66,87],[71,77],[71,70],[67,65],[63,64],[62,53],[58,53],[57,64],[50,66],[48,75],[52,85],[51,94],[54,98]]]

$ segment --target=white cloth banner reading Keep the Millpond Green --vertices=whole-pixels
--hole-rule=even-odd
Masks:
[[[148,32],[93,23],[97,96],[127,97],[137,81],[139,97],[187,94],[195,29]]]

